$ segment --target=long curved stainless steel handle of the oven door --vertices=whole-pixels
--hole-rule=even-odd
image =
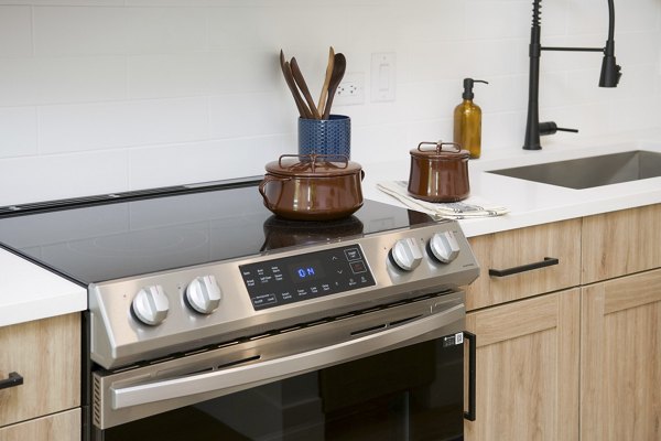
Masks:
[[[209,391],[215,391],[220,396],[225,395],[224,390],[229,394],[260,384],[305,374],[395,348],[407,343],[415,343],[416,338],[422,342],[440,337],[443,333],[447,333],[447,330],[443,330],[444,326],[457,322],[463,325],[465,314],[464,304],[459,304],[397,327],[281,358],[141,385],[111,386],[111,408],[115,410],[124,409]],[[434,334],[425,338],[419,338],[430,333]]]

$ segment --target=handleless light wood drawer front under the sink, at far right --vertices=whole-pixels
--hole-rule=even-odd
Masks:
[[[661,204],[583,219],[583,284],[661,267]]]

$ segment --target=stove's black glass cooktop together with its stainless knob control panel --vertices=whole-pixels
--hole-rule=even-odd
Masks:
[[[88,288],[107,369],[256,338],[472,282],[456,222],[373,201],[284,220],[256,182],[0,207],[0,244]]]

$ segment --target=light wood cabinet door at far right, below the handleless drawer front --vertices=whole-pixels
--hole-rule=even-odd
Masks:
[[[661,440],[661,270],[583,288],[582,441]]]

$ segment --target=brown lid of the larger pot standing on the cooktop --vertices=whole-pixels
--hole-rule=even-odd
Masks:
[[[338,154],[282,154],[269,162],[267,172],[296,178],[344,176],[362,169],[345,155]]]

